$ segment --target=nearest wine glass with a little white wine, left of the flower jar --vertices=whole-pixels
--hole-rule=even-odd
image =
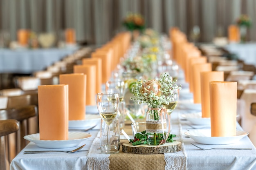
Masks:
[[[117,116],[119,109],[119,95],[118,93],[97,93],[97,108],[99,115],[107,124],[107,145],[110,146],[110,124],[112,119]]]

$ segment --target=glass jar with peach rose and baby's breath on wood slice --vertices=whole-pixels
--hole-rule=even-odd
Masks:
[[[181,89],[175,82],[170,75],[164,73],[159,79],[138,79],[133,84],[131,99],[137,104],[148,105],[146,135],[149,145],[164,144],[168,138],[170,126],[167,127],[167,121],[170,121],[170,118],[163,105],[174,100],[175,89]]]

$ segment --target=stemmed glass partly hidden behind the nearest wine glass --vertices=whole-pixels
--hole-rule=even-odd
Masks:
[[[124,102],[124,93],[125,93],[125,83],[120,79],[107,81],[106,82],[106,92],[107,93],[118,93],[119,94],[119,110],[117,112],[117,117],[119,118],[119,125],[122,129],[124,126],[124,119],[126,117],[125,112],[125,102]]]

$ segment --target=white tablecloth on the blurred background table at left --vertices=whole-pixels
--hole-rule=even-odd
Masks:
[[[74,53],[77,47],[65,49],[0,49],[0,73],[40,71],[63,57]]]

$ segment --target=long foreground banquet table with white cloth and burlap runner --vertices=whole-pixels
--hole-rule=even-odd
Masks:
[[[193,94],[189,93],[189,85],[181,80],[182,90],[180,101],[193,101]],[[88,112],[90,110],[87,110]],[[48,150],[39,148],[30,142],[11,162],[10,170],[132,170],[132,169],[166,169],[166,170],[254,170],[256,169],[256,148],[247,136],[235,144],[229,145],[204,145],[198,144],[193,139],[186,137],[184,132],[192,130],[193,126],[189,121],[182,119],[182,114],[195,113],[200,111],[199,107],[188,109],[180,105],[172,113],[172,133],[175,140],[182,142],[182,150],[175,153],[144,155],[118,154],[105,155],[99,150],[99,129],[100,125],[88,131],[92,135],[83,143],[86,146],[85,152],[68,153],[42,153],[23,155],[24,150]],[[99,117],[98,114],[86,114],[88,119]],[[130,122],[126,122],[125,131],[131,136]],[[195,128],[195,127],[194,127]],[[197,126],[198,128],[198,126]],[[237,123],[237,130],[242,130]],[[127,140],[121,135],[121,143]],[[252,150],[199,150],[197,144],[202,148],[229,147],[229,148],[252,148]],[[82,145],[82,144],[81,144]],[[74,147],[76,148],[76,147]],[[65,150],[72,150],[67,148]]]

